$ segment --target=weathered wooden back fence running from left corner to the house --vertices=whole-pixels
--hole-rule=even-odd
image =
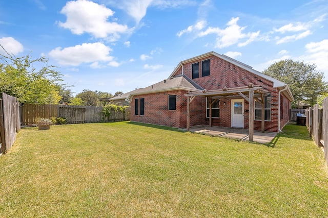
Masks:
[[[22,126],[35,124],[38,117],[51,118],[64,117],[66,124],[104,123],[130,120],[130,109],[126,112],[112,109],[111,115],[105,117],[104,107],[98,106],[76,106],[76,105],[36,105],[24,104],[21,107]]]

